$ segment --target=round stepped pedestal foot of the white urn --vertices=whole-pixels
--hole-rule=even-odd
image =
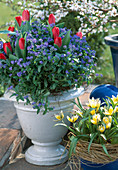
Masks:
[[[33,142],[25,153],[27,162],[35,165],[57,165],[67,161],[68,151],[60,141],[52,143]]]

